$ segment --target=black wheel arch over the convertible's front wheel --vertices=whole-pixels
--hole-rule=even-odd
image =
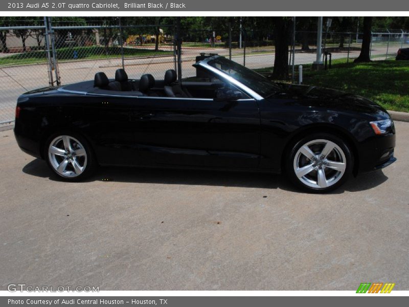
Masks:
[[[295,145],[295,143],[297,143],[297,141],[299,141],[303,137],[308,136],[313,133],[329,133],[345,141],[348,147],[351,149],[353,163],[354,163],[352,173],[354,176],[356,176],[356,174],[358,173],[358,168],[359,168],[359,156],[358,156],[358,150],[356,147],[356,140],[354,139],[354,137],[348,130],[342,127],[339,127],[339,126],[335,126],[333,124],[311,124],[311,125],[303,126],[302,128],[294,131],[291,134],[291,136],[288,138],[288,141],[285,144],[283,155],[281,158],[281,169],[285,169],[284,168],[285,158],[288,157],[291,147]]]

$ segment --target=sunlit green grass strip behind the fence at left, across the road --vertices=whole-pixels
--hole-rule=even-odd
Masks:
[[[74,52],[77,52],[77,58],[74,58]],[[121,57],[120,47],[108,47],[105,50],[101,46],[90,47],[64,47],[56,50],[57,58],[61,60],[76,61],[80,59],[106,59],[113,57]],[[125,57],[140,57],[152,55],[171,55],[171,51],[154,51],[149,49],[124,48]],[[3,65],[24,65],[34,63],[44,63],[47,61],[46,52],[44,50],[29,51],[25,53],[11,54],[9,56],[0,57],[0,67]]]

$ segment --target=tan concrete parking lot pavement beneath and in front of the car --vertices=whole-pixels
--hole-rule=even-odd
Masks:
[[[325,195],[282,176],[101,168],[57,181],[0,132],[0,289],[409,290],[409,123],[398,161]]]

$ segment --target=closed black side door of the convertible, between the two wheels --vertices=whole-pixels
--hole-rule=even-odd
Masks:
[[[258,166],[260,115],[254,99],[138,97],[131,121],[141,164]]]

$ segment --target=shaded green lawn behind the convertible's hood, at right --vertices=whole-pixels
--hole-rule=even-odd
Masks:
[[[310,66],[305,65],[303,70],[304,84],[346,91],[369,98],[389,110],[409,112],[409,61],[345,63],[345,59],[337,59],[326,71],[313,71]],[[257,71],[267,73],[272,69]],[[298,80],[298,76],[295,79]]]

